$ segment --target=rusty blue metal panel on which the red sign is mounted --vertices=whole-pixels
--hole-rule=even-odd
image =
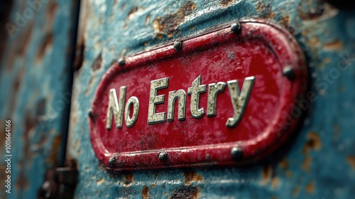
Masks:
[[[69,155],[77,198],[351,198],[355,194],[355,15],[323,1],[84,1],[84,62],[75,74]],[[248,168],[109,173],[94,155],[89,111],[111,63],[241,18],[267,18],[307,56],[314,102],[293,141]],[[302,107],[302,106],[300,106]]]

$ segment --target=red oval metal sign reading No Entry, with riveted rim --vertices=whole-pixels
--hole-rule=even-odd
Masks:
[[[256,161],[295,129],[306,80],[288,32],[240,21],[112,65],[89,114],[92,147],[116,171]]]

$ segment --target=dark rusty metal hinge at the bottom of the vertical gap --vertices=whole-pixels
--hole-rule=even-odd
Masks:
[[[39,199],[73,198],[78,181],[77,163],[67,161],[65,167],[53,167],[45,173],[45,182],[38,190]]]

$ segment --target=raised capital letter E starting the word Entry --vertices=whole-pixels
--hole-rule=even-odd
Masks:
[[[157,95],[158,90],[168,87],[169,77],[151,81],[149,96],[148,124],[162,123],[166,120],[166,112],[155,113],[155,105],[163,104],[165,95]]]

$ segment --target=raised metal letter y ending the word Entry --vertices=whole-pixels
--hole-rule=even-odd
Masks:
[[[234,115],[226,121],[226,127],[235,127],[244,114],[246,104],[251,95],[255,77],[246,77],[241,91],[239,89],[238,80],[228,81],[229,95],[231,95],[231,104],[233,104]]]

